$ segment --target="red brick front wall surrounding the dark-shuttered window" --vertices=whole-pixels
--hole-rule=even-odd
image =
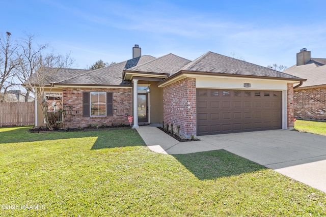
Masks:
[[[113,92],[113,116],[108,117],[83,117],[83,92]],[[66,127],[87,127],[89,124],[102,126],[128,124],[128,116],[131,114],[132,89],[126,88],[63,88],[63,107],[67,111]]]

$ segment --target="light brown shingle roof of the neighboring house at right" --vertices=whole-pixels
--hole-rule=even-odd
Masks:
[[[312,58],[313,61],[309,61],[307,64],[302,66],[292,66],[286,70],[285,73],[306,78],[307,81],[303,83],[300,87],[316,86],[326,84],[326,65],[321,65],[321,58]],[[318,63],[315,63],[318,61]],[[324,59],[326,61],[326,59]],[[310,63],[310,64],[309,64]]]

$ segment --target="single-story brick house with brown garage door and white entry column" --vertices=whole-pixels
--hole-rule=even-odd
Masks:
[[[191,61],[140,49],[102,69],[59,70],[52,94],[61,96],[66,127],[119,125],[133,115],[134,128],[164,121],[185,137],[293,128],[293,84],[305,79],[213,52]],[[36,110],[36,126],[44,125]]]

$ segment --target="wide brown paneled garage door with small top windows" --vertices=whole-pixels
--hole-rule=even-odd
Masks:
[[[197,89],[197,135],[282,129],[282,91]]]

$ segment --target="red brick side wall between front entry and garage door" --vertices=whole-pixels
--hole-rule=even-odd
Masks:
[[[180,126],[180,135],[196,136],[196,79],[185,78],[163,88],[164,125]]]

